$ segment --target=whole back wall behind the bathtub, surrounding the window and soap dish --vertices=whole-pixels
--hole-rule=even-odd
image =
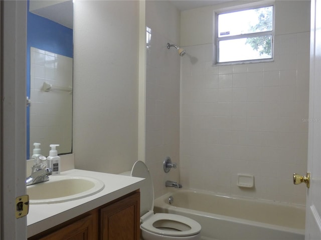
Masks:
[[[309,1],[276,1],[274,61],[212,66],[214,7],[181,13],[181,182],[229,195],[305,203]],[[303,119],[303,120],[302,120]],[[255,188],[236,185],[237,173]]]

